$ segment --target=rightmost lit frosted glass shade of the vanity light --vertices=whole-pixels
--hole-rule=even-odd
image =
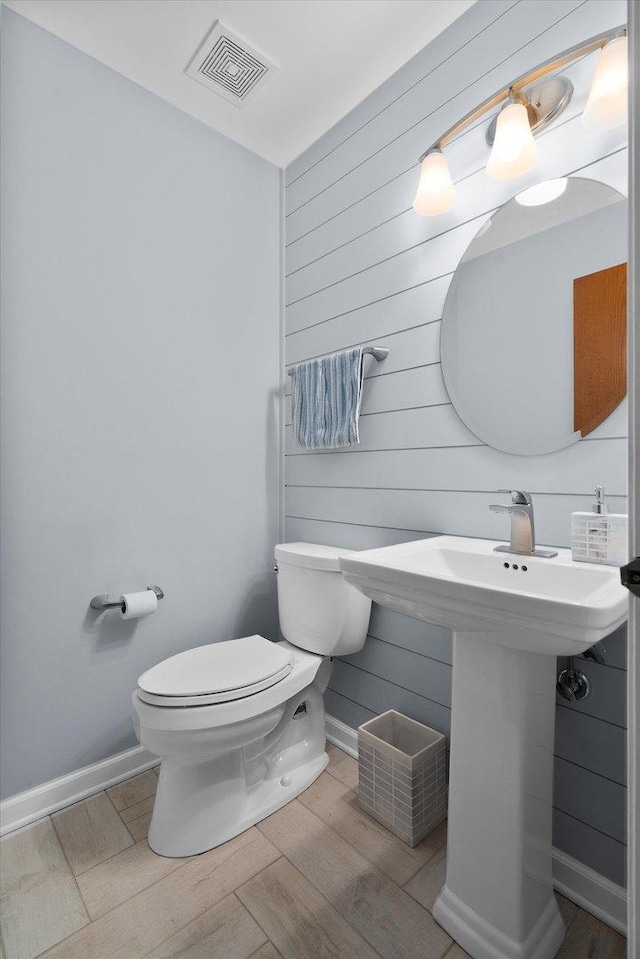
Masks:
[[[612,130],[627,119],[629,67],[627,38],[616,37],[596,60],[589,99],[582,114],[587,130]]]

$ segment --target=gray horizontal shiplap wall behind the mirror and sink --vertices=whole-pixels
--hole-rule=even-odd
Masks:
[[[517,184],[484,173],[484,124],[448,149],[455,209],[411,210],[416,158],[495,89],[553,54],[623,23],[623,0],[482,0],[287,169],[287,362],[357,343],[391,350],[369,369],[357,450],[307,453],[287,436],[286,536],[354,549],[429,533],[499,538],[489,513],[499,487],[535,495],[540,542],[568,545],[570,515],[597,483],[626,509],[626,423],[614,414],[558,453],[518,457],[482,444],[449,403],[439,326],[452,272],[472,236],[515,192],[578,172],[626,193],[624,133],[587,133],[582,91],[539,139],[540,162]],[[370,361],[368,361],[370,362]],[[584,663],[594,692],[558,704],[555,844],[622,883],[625,638],[608,665]],[[336,663],[327,710],[357,726],[390,707],[448,732],[451,639],[374,608],[361,653]]]

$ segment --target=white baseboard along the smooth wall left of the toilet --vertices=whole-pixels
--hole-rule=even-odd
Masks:
[[[153,753],[142,746],[135,746],[92,766],[85,766],[59,779],[10,796],[0,802],[0,836],[44,819],[65,806],[115,786],[123,779],[137,776],[157,766],[158,762],[158,757]]]

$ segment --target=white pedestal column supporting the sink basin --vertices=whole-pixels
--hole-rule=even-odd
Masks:
[[[435,919],[473,959],[551,959],[556,660],[454,634],[447,878]]]

